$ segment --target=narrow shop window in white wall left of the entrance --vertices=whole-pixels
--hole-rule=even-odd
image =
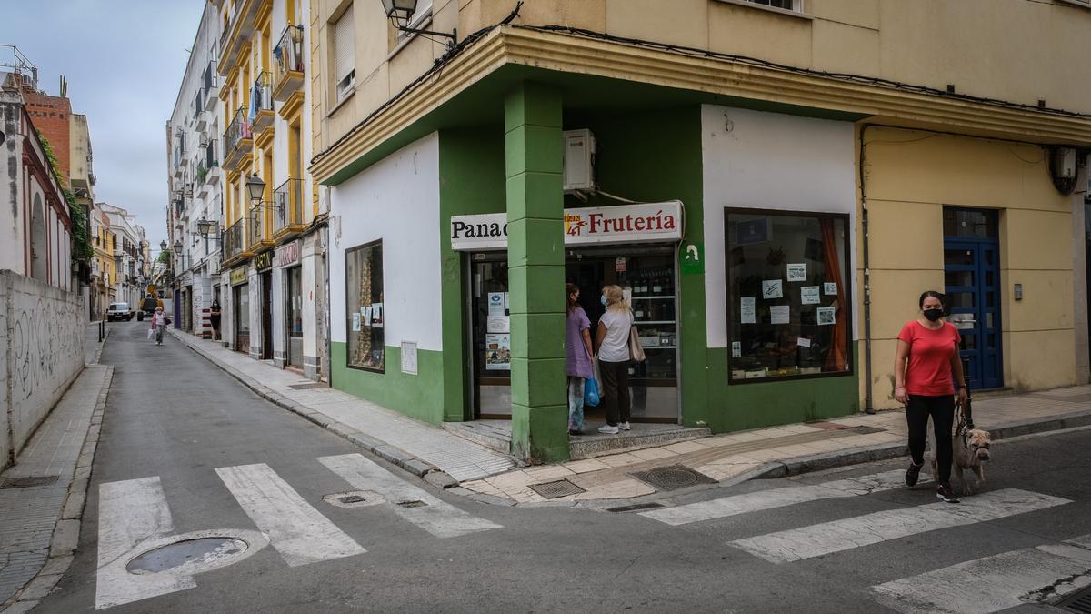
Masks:
[[[383,241],[345,251],[345,303],[349,367],[383,373]]]

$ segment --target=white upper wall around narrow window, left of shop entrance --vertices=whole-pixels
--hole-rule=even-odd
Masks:
[[[340,219],[340,238],[333,229],[329,247],[333,341],[346,340],[345,250],[383,239],[385,344],[416,341],[420,350],[443,350],[439,134],[406,145],[333,188],[331,213]]]

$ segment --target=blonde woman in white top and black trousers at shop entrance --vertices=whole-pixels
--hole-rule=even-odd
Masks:
[[[628,365],[632,361],[628,353],[628,329],[633,326],[633,312],[621,286],[603,287],[601,300],[607,310],[599,318],[595,345],[599,349],[607,424],[599,427],[599,433],[616,435],[619,430],[630,428]]]

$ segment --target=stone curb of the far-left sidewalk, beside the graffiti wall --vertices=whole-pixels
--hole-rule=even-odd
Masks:
[[[113,382],[113,366],[101,366],[106,367],[103,388],[98,391],[98,398],[95,400],[95,409],[91,414],[87,435],[83,439],[83,447],[80,449],[80,457],[75,462],[75,473],[72,475],[72,482],[69,483],[64,505],[61,507],[60,517],[57,519],[52,538],[49,540],[49,555],[46,557],[41,570],[22,589],[15,591],[15,594],[8,601],[0,604],[0,612],[22,614],[37,606],[41,599],[57,587],[57,582],[64,576],[69,566],[72,565],[72,559],[75,558],[75,551],[80,545],[80,524],[83,521],[83,509],[87,503],[87,488],[91,485],[92,463],[95,460],[98,437],[103,428],[106,398]]]

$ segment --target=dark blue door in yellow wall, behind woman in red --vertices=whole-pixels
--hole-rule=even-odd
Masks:
[[[944,285],[970,388],[1003,387],[996,211],[944,208]]]

